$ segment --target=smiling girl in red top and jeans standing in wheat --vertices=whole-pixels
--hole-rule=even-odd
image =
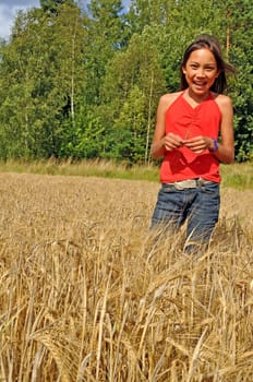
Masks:
[[[219,163],[234,158],[232,103],[222,95],[233,68],[205,35],[186,48],[180,72],[181,91],[161,96],[157,109],[152,155],[164,160],[152,227],[186,220],[184,250],[192,252],[208,243],[218,220]]]

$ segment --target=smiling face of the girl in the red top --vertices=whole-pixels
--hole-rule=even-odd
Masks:
[[[219,75],[216,59],[207,48],[192,51],[182,71],[189,91],[197,97],[208,94],[210,86]]]

